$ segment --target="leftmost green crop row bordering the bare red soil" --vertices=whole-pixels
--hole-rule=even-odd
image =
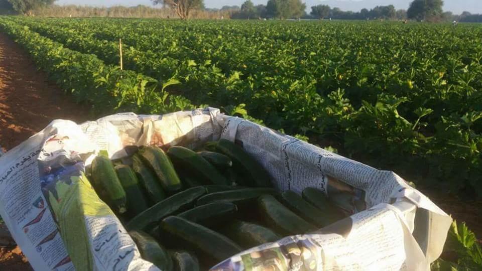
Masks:
[[[169,95],[151,77],[66,48],[8,18],[0,19],[0,28],[29,51],[51,80],[77,101],[90,104],[98,115],[113,110],[166,113],[195,107],[182,96]]]

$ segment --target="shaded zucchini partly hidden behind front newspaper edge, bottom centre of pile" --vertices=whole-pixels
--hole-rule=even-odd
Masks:
[[[219,230],[229,239],[233,240],[244,249],[271,243],[281,239],[281,236],[258,224],[234,220]]]

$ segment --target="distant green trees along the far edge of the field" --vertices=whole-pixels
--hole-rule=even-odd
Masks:
[[[306,4],[301,0],[268,0],[266,5],[254,5],[247,0],[243,5],[224,6],[221,9],[206,9],[203,0],[151,0],[154,5],[163,5],[173,10],[181,19],[187,19],[192,11],[223,12],[231,19],[337,19],[337,20],[417,20],[482,22],[482,15],[463,12],[453,15],[443,12],[442,0],[414,0],[407,10],[396,10],[393,5],[362,9],[359,12],[342,11],[327,5],[311,7],[306,13]],[[34,9],[54,4],[55,0],[0,0],[0,10],[18,14],[30,14]]]

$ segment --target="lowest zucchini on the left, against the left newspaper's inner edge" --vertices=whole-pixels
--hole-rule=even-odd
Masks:
[[[129,235],[139,248],[143,259],[154,263],[161,270],[172,270],[171,256],[152,236],[143,231],[130,231]]]

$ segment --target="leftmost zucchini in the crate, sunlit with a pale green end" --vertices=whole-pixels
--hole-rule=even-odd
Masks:
[[[126,212],[126,192],[115,174],[112,161],[105,156],[97,156],[91,165],[92,186],[99,197],[117,214]]]

